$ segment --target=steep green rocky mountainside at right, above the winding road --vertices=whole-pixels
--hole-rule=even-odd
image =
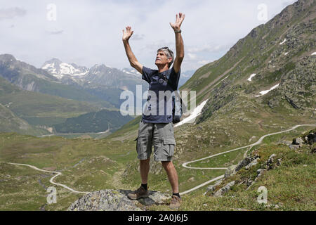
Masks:
[[[315,1],[297,1],[251,30],[225,56],[199,68],[181,88],[196,90],[198,103],[209,99],[199,122],[220,108],[222,114],[228,113],[242,102],[244,106],[268,106],[282,115],[285,109],[312,112],[316,103],[315,35]],[[225,105],[230,107],[224,110]]]

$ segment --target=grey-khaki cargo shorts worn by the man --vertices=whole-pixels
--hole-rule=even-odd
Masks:
[[[176,141],[173,133],[173,123],[147,123],[140,120],[136,150],[138,159],[147,160],[154,146],[154,160],[171,161]]]

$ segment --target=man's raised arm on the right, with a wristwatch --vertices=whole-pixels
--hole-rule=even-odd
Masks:
[[[176,15],[176,23],[170,23],[172,29],[176,34],[176,59],[173,63],[173,68],[176,73],[179,72],[182,60],[184,58],[184,45],[180,30],[184,18],[185,14],[179,13]]]

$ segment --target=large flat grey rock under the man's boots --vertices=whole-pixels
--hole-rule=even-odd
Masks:
[[[101,190],[88,193],[74,201],[68,211],[141,211],[136,205],[162,204],[169,196],[157,191],[150,191],[148,198],[130,200],[127,194],[129,190]],[[139,204],[138,204],[139,205]]]

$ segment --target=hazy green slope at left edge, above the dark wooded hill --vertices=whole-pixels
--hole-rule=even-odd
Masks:
[[[0,77],[0,103],[31,125],[48,126],[98,110],[90,103],[25,91]]]

